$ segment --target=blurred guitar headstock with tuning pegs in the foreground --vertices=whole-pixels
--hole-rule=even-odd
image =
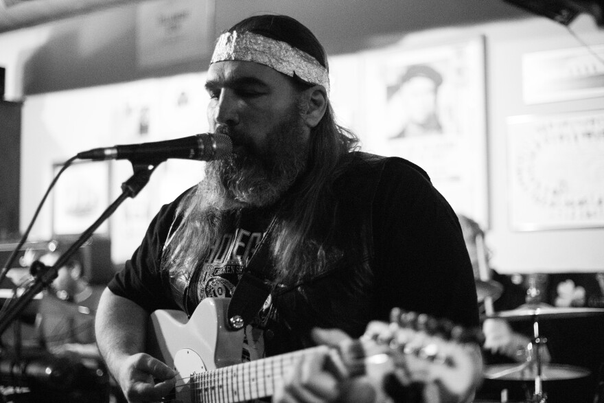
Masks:
[[[386,401],[469,402],[483,380],[482,341],[478,329],[395,308],[362,337],[365,371]]]

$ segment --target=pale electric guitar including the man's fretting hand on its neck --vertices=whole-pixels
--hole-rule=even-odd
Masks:
[[[478,341],[448,322],[399,310],[359,340],[318,331],[335,347],[241,363],[243,333],[229,330],[228,303],[205,299],[188,321],[182,312],[152,314],[148,349],[178,373],[165,401],[457,403],[469,401],[482,379]]]

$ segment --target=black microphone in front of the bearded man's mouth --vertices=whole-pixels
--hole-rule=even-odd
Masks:
[[[138,163],[160,163],[169,158],[213,161],[227,157],[232,151],[233,142],[229,136],[202,133],[181,139],[93,148],[78,153],[76,157],[93,161],[129,159]]]

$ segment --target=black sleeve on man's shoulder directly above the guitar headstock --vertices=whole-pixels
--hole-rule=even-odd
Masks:
[[[377,309],[478,325],[474,273],[457,217],[421,168],[386,162],[373,203]]]

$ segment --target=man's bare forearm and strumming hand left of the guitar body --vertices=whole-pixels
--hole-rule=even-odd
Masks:
[[[104,290],[95,321],[97,345],[128,402],[159,400],[174,388],[176,373],[144,353],[148,317],[137,303]]]

